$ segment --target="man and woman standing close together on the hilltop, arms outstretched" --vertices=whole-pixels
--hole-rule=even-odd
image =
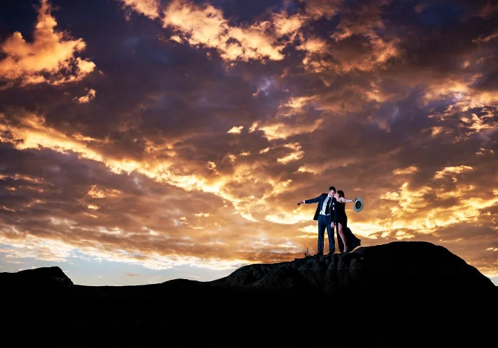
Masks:
[[[344,197],[344,192],[331,186],[329,193],[322,193],[317,198],[302,200],[297,205],[302,203],[318,203],[313,220],[318,221],[318,253],[323,255],[323,247],[325,241],[325,229],[329,238],[329,255],[336,251],[336,243],[334,242],[334,228],[337,226],[337,244],[341,253],[349,253],[357,246],[361,245],[360,239],[352,234],[348,228],[348,216],[345,213],[345,203],[354,203],[355,199]]]

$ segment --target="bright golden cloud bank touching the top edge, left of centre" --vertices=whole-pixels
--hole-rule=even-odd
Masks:
[[[283,10],[280,13],[270,13],[271,21],[234,26],[221,10],[210,4],[198,5],[193,1],[173,0],[163,10],[155,0],[120,1],[150,19],[160,17],[165,28],[176,31],[170,40],[217,49],[221,58],[226,61],[280,61],[283,59],[283,48],[295,40],[304,24],[338,12],[336,4],[330,1],[319,6],[317,3],[306,3],[304,13],[289,15]],[[284,37],[288,39],[279,41]],[[318,39],[310,39],[300,49],[316,52],[317,48],[313,45],[317,44]]]

